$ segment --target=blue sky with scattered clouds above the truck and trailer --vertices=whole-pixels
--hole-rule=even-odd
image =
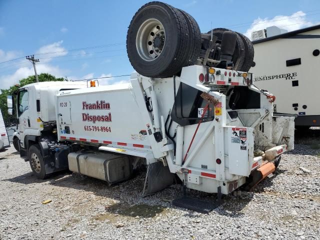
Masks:
[[[126,31],[145,0],[0,0],[0,62],[35,54],[38,73],[68,79],[114,76],[133,71],[125,50]],[[227,27],[244,32],[270,25],[294,30],[320,22],[318,0],[167,0],[190,13],[201,32]],[[103,45],[103,46],[101,46]],[[72,50],[91,46],[81,50]],[[45,52],[51,54],[36,54]],[[26,59],[0,63],[0,88],[33,73]],[[128,77],[100,80],[102,84]]]

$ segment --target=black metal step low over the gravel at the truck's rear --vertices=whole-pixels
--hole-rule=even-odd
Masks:
[[[190,196],[182,196],[180,198],[174,199],[172,201],[172,204],[174,206],[183,207],[189,210],[206,213],[206,214],[220,205],[218,201],[209,202],[209,201],[200,200]]]

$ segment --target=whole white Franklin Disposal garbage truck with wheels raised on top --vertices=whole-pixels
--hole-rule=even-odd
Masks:
[[[16,92],[20,155],[40,178],[68,168],[110,184],[146,165],[143,194],[175,175],[184,189],[219,196],[255,185],[293,148],[294,117],[273,114],[275,97],[241,71],[253,59],[241,37],[200,33],[186,12],[145,4],[128,29],[129,83],[40,82]],[[247,51],[234,57],[239,39]],[[194,208],[186,201],[176,204]]]

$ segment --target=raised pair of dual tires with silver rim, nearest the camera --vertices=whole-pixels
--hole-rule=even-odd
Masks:
[[[126,49],[133,68],[148,77],[170,77],[195,63],[200,29],[188,13],[163,2],[149,2],[133,16]]]

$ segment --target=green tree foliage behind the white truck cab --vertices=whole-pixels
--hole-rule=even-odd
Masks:
[[[49,73],[41,73],[38,75],[39,81],[64,81],[63,77],[55,77]],[[12,119],[12,116],[8,114],[8,108],[6,105],[6,96],[7,95],[12,95],[13,91],[17,90],[19,87],[22,87],[24,85],[30,84],[36,82],[35,80],[35,75],[31,75],[25,78],[22,78],[19,81],[19,86],[13,85],[10,86],[8,89],[0,89],[0,109],[3,115],[3,120],[5,122],[5,125],[8,126],[10,123],[10,119]]]

